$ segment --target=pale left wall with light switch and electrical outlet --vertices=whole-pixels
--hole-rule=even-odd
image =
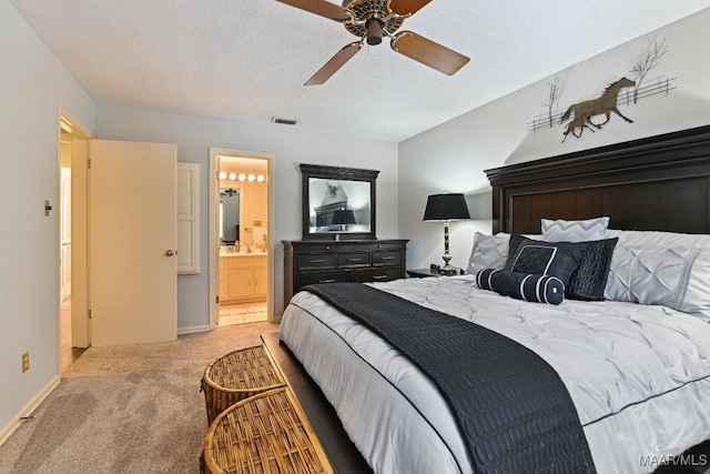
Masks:
[[[0,441],[59,374],[59,107],[88,129],[95,104],[0,0]],[[21,354],[30,371],[21,373]]]

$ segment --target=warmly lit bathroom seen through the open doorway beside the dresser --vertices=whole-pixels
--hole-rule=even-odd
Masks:
[[[213,326],[270,321],[271,157],[211,149]]]

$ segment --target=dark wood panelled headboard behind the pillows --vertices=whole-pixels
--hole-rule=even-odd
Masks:
[[[486,170],[493,231],[540,219],[611,218],[610,229],[710,233],[710,125]]]

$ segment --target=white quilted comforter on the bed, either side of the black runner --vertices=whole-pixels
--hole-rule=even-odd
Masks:
[[[473,276],[375,288],[538,353],[569,390],[599,473],[651,472],[710,438],[710,324],[696,316],[619,302],[527,303],[478,290]],[[375,472],[471,471],[434,384],[371,331],[302,292],[284,312],[280,337]]]

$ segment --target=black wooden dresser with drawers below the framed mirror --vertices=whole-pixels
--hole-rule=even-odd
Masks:
[[[284,302],[312,283],[405,278],[408,240],[283,241]]]

